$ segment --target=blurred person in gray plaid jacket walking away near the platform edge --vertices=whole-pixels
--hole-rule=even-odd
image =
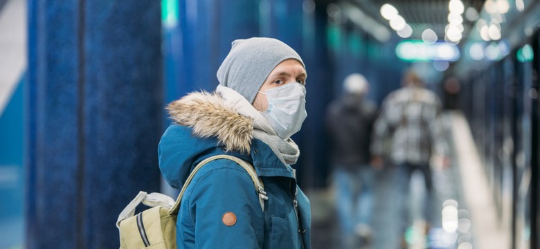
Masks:
[[[442,156],[445,167],[449,164],[446,156],[448,145],[439,120],[441,108],[437,95],[424,88],[424,83],[414,71],[407,71],[402,79],[402,88],[384,99],[375,122],[372,164],[380,167],[386,159],[397,167],[393,181],[397,194],[394,200],[400,205],[402,220],[399,226],[402,232],[412,225],[408,216],[408,192],[411,174],[416,170],[422,172],[426,186],[422,210],[425,234],[433,223],[432,152]],[[389,151],[385,151],[387,147]],[[384,155],[388,158],[383,158]],[[406,246],[403,237],[402,246]]]

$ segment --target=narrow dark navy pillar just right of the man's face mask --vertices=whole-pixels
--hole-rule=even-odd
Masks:
[[[296,167],[301,187],[326,187],[330,172],[325,137],[325,111],[332,100],[334,68],[327,42],[327,3],[305,1],[303,20],[303,52],[307,69],[307,118],[294,137],[300,147]],[[298,50],[297,50],[298,51]]]

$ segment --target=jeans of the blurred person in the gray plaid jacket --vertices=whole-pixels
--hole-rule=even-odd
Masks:
[[[396,183],[396,200],[399,203],[400,213],[402,221],[400,223],[402,231],[405,231],[408,226],[412,225],[411,218],[409,217],[409,185],[411,183],[411,175],[416,170],[422,172],[424,176],[424,183],[426,184],[426,195],[424,196],[424,203],[422,203],[422,218],[428,222],[433,223],[433,183],[431,181],[431,167],[429,163],[413,164],[413,163],[401,163],[397,165],[395,172],[394,183]]]

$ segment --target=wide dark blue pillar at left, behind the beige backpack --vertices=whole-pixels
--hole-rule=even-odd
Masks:
[[[120,211],[159,191],[160,9],[28,2],[26,248],[118,248]]]

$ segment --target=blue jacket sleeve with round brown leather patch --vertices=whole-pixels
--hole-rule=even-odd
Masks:
[[[205,167],[209,170],[199,172],[192,191],[186,193],[196,248],[262,248],[264,217],[249,174],[225,159]],[[225,214],[228,222],[223,220]]]

